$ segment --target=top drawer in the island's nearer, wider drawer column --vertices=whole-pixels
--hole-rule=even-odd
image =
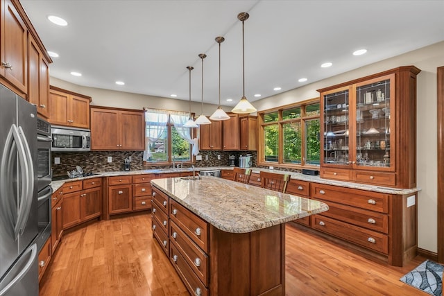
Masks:
[[[204,252],[208,252],[208,224],[175,200],[169,202],[169,218]]]

